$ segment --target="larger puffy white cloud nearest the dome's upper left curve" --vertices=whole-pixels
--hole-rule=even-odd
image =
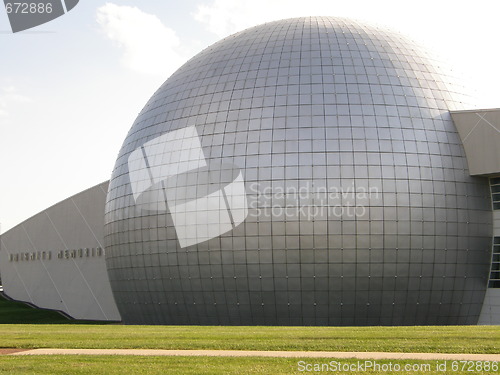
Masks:
[[[136,72],[165,76],[185,60],[175,31],[136,7],[106,3],[97,9],[97,23],[123,50],[123,64]]]

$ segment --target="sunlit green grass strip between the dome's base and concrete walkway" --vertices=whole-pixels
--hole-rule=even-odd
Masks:
[[[3,348],[500,353],[500,327],[0,325]]]

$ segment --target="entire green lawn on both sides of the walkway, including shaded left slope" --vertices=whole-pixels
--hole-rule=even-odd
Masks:
[[[78,324],[58,313],[0,298],[0,348],[232,349],[500,353],[500,327],[206,327]],[[43,323],[43,324],[39,324]],[[51,324],[48,324],[51,323]],[[55,324],[57,323],[57,324]],[[61,324],[62,323],[62,324]],[[72,324],[68,324],[72,323]],[[88,323],[88,322],[86,322]],[[300,374],[298,358],[0,356],[0,374]],[[334,359],[303,359],[326,366]],[[357,365],[358,360],[337,360]],[[364,363],[364,360],[359,362]],[[436,364],[446,363],[446,371]],[[378,365],[427,365],[412,371],[331,371],[346,374],[471,374],[452,361],[384,360]],[[326,372],[326,371],[324,371]],[[498,369],[473,371],[500,374]],[[314,372],[313,373],[317,373]]]

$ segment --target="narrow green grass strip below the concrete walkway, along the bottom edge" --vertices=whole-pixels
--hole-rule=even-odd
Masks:
[[[299,367],[299,361],[304,361]],[[304,364],[329,365],[331,359],[301,358],[229,358],[229,357],[130,357],[130,356],[42,356],[42,357],[3,357],[0,358],[1,374],[37,374],[37,375],[246,375],[246,374],[301,374],[318,373],[299,371]],[[338,360],[342,366],[357,367],[358,360]],[[366,362],[359,361],[362,366]],[[437,371],[436,366],[446,364],[446,371]],[[498,374],[496,370],[466,371],[453,370],[452,361],[372,361],[372,365],[380,368],[366,371],[331,371],[333,374]],[[388,371],[382,366],[400,366],[402,370]],[[409,365],[409,371],[404,371]],[[456,365],[456,363],[455,363]],[[484,365],[484,363],[483,363]],[[425,366],[425,367],[422,367]],[[390,367],[388,367],[390,368]],[[333,367],[332,367],[333,369]],[[323,373],[327,373],[323,371]]]

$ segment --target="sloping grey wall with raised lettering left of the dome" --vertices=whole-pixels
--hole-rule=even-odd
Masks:
[[[120,321],[105,263],[108,181],[2,234],[0,275],[11,299],[81,320]]]

